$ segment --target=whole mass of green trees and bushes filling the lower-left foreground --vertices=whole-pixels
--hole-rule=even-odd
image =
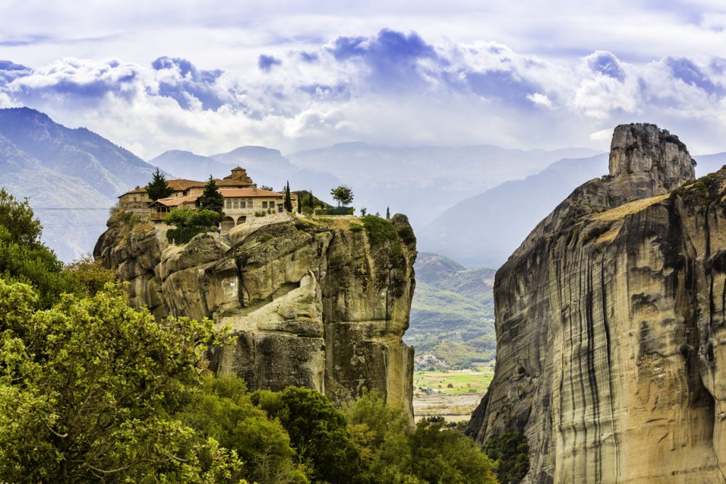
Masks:
[[[15,243],[36,247],[32,234]],[[109,274],[92,261],[58,267],[68,284],[46,301],[40,272],[28,284],[0,276],[0,475],[10,482],[494,482],[473,440],[439,422],[412,429],[375,395],[340,411],[315,390],[249,394],[242,380],[212,377],[206,348],[221,334],[211,321],[156,321],[118,285],[99,290]]]

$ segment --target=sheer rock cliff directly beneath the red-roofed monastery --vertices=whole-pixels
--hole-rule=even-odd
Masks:
[[[181,247],[112,218],[94,255],[129,282],[131,305],[230,327],[236,342],[213,351],[216,372],[237,374],[253,390],[312,387],[334,401],[375,389],[412,417],[413,350],[401,337],[415,245],[372,242],[350,229],[352,218],[277,217]],[[405,216],[391,222],[410,229]]]

